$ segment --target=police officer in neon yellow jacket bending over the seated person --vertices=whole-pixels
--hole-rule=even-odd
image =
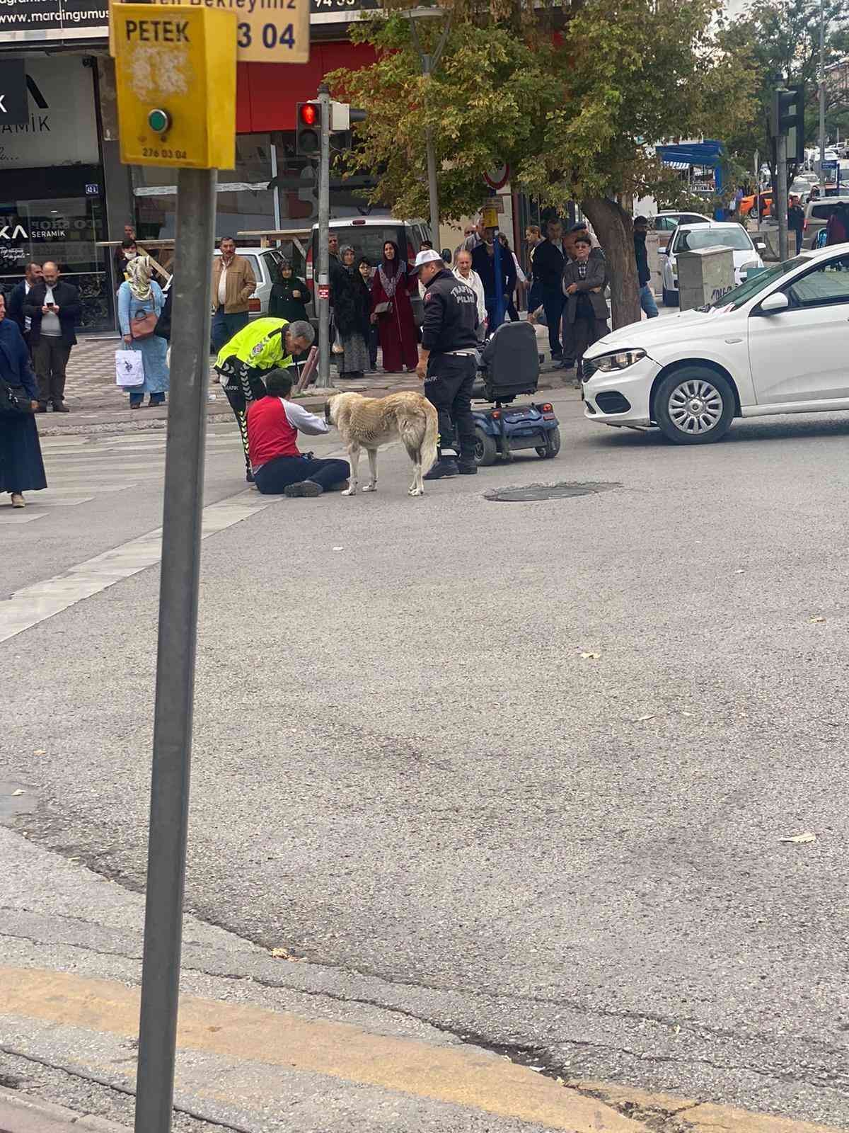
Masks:
[[[215,359],[215,369],[235,415],[245,449],[246,479],[252,484],[248,457],[248,403],[266,395],[263,374],[285,369],[292,355],[309,350],[316,332],[303,320],[255,318],[224,343]]]

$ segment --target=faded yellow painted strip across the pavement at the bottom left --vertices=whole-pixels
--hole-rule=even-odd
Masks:
[[[138,1033],[138,989],[108,980],[0,966],[0,1004],[5,1015],[126,1038]],[[180,998],[177,1045],[257,1070],[325,1074],[568,1133],[646,1133],[646,1126],[595,1098],[466,1045],[432,1046],[351,1023],[188,996]],[[217,1097],[220,1084],[209,1081],[203,1093]]]

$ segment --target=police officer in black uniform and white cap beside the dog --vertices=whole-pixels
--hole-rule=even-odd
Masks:
[[[413,272],[419,273],[427,289],[415,373],[423,378],[424,397],[439,415],[439,459],[424,479],[439,480],[457,474],[473,476],[478,471],[472,417],[478,298],[446,269],[434,249],[419,253]],[[455,449],[460,460],[445,457],[443,446]]]

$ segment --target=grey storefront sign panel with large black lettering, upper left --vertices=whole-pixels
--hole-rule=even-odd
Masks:
[[[27,113],[19,125],[0,122],[0,176],[10,168],[100,164],[91,67],[78,56],[23,62]]]

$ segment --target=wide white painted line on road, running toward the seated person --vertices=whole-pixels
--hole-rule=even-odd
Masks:
[[[243,519],[280,500],[280,496],[263,496],[257,492],[239,492],[226,500],[204,508],[203,538],[223,531]],[[46,514],[24,514],[9,517],[3,522],[27,522]],[[101,590],[120,582],[121,579],[138,574],[154,566],[162,557],[162,528],[147,531],[121,546],[113,547],[94,559],[70,566],[61,574],[34,582],[16,590],[7,602],[0,604],[0,641],[37,625],[38,622],[68,610],[84,598],[91,598]]]

